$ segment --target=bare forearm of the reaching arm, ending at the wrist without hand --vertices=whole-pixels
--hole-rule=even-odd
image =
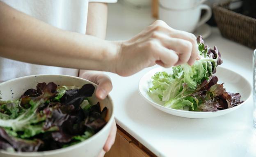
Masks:
[[[112,71],[113,42],[57,29],[0,2],[0,56],[75,69]]]

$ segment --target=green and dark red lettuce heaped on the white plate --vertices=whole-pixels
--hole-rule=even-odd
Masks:
[[[200,60],[194,65],[172,67],[172,73],[158,72],[152,77],[149,96],[163,106],[189,111],[218,111],[241,104],[239,93],[226,92],[213,74],[222,64],[216,46],[210,49],[201,36],[197,38]]]

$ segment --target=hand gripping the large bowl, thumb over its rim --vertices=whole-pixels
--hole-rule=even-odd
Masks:
[[[98,84],[98,87],[96,89],[96,97],[100,100],[105,99],[108,93],[110,93],[110,91],[112,90],[112,82],[110,80],[110,77],[103,74],[102,72],[85,71],[82,74],[80,74],[80,77]],[[111,146],[114,144],[114,140],[116,138],[116,132],[117,132],[117,126],[114,121],[110,130],[110,135],[108,135],[107,141],[103,147],[103,150],[98,155],[98,157],[103,157],[105,153],[110,150]]]

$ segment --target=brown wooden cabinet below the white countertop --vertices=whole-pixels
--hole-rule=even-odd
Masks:
[[[156,157],[146,147],[131,137],[119,126],[117,127],[116,140],[109,152],[104,157]]]

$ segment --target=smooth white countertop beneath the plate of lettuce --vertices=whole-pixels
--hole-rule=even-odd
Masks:
[[[149,9],[136,11],[120,3],[109,4],[108,40],[126,40],[154,19]],[[252,49],[223,38],[218,29],[205,43],[217,45],[223,67],[252,80]],[[189,119],[164,113],[148,104],[138,93],[139,79],[150,69],[130,77],[107,73],[113,83],[111,96],[116,122],[159,157],[253,157],[256,130],[252,129],[252,97],[247,104],[227,115]]]

